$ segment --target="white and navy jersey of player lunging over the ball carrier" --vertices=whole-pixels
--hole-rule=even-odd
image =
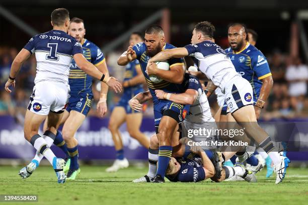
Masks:
[[[203,41],[198,44],[185,46],[189,56],[193,57],[198,68],[203,72],[214,85],[221,90],[225,83],[235,76],[240,76],[226,56],[223,49],[211,41]]]

